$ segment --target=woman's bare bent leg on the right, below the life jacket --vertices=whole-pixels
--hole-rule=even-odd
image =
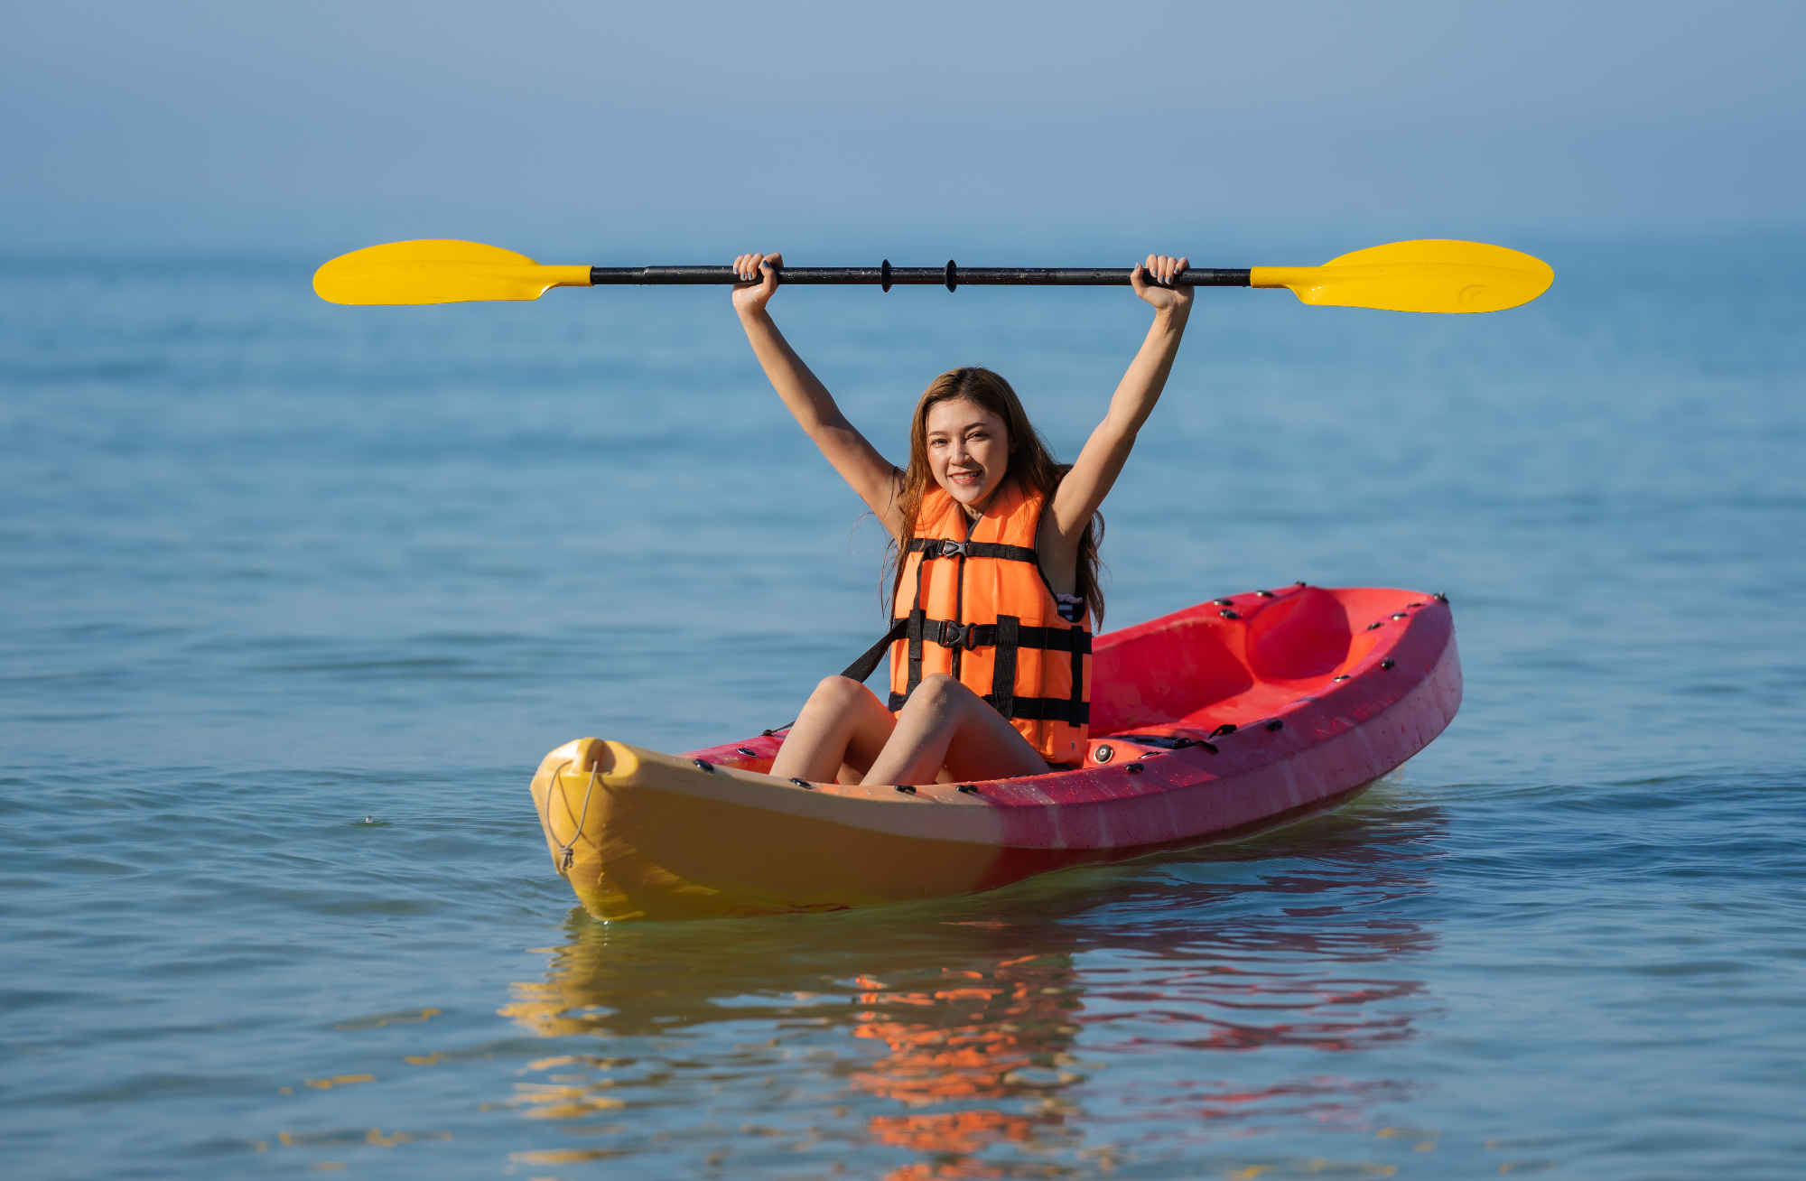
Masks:
[[[1047,760],[1022,731],[970,688],[937,672],[923,677],[903,702],[896,730],[861,782],[932,784],[943,766],[963,782],[1047,773]]]

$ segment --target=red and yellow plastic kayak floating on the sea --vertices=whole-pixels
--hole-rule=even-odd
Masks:
[[[663,755],[578,739],[533,776],[553,867],[605,921],[952,897],[1340,807],[1461,706],[1439,594],[1253,590],[1093,643],[1071,769],[975,784],[768,775],[784,731]]]

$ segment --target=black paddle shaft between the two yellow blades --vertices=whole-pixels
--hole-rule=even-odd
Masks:
[[[975,287],[1127,287],[1129,267],[959,267],[952,260],[945,267],[780,267],[780,284],[820,285],[876,285],[941,287],[954,291],[961,284]],[[614,284],[695,285],[737,284],[733,267],[591,267],[594,287]],[[1152,278],[1149,280],[1159,285]],[[1188,267],[1178,274],[1174,287],[1246,287],[1248,267],[1206,269]]]

